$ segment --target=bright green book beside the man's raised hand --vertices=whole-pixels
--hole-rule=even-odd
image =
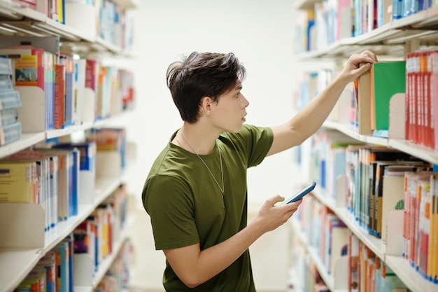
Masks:
[[[371,74],[374,82],[372,128],[377,136],[388,137],[389,102],[396,93],[406,92],[406,62],[377,62]]]

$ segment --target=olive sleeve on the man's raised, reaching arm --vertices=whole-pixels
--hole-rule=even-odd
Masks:
[[[270,127],[255,127],[243,125],[241,131],[236,134],[234,140],[238,151],[246,153],[247,167],[259,165],[266,157],[274,141],[274,133]]]

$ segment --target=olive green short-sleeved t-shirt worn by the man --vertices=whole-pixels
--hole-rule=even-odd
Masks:
[[[170,141],[174,139],[176,132]],[[246,227],[246,170],[260,164],[271,147],[269,127],[243,125],[239,133],[223,133],[210,155],[169,144],[155,160],[143,188],[143,206],[150,215],[156,249],[175,249],[199,242],[201,250],[225,241]],[[220,151],[220,153],[219,153]],[[232,265],[195,288],[178,279],[169,263],[163,276],[166,291],[255,291],[247,250]]]

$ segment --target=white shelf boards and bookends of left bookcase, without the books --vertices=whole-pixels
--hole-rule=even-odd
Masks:
[[[38,0],[37,8],[33,9],[21,6],[18,1],[0,0],[0,36],[37,36],[41,38],[55,36],[59,38],[63,53],[72,53],[80,58],[93,54],[94,57],[99,55],[103,58],[132,57],[129,48],[121,46],[120,43],[112,43],[97,34],[90,34],[90,32],[77,27],[64,25],[39,11],[41,9],[38,6],[47,3],[48,1]],[[123,10],[133,10],[139,6],[138,0],[116,0],[114,3],[118,4]],[[66,11],[68,6],[64,6],[63,9]],[[80,18],[80,16],[77,18]],[[24,91],[26,90],[31,89],[25,88]],[[90,90],[85,90],[85,95],[90,97],[90,100],[95,98],[94,92],[90,92]],[[85,113],[81,123],[68,125],[57,130],[22,132],[22,137],[19,140],[0,147],[0,159],[42,145],[48,139],[64,139],[87,130],[120,125],[123,116],[126,114],[126,112],[114,111],[114,114],[97,120],[89,114],[90,111],[94,111],[94,106],[92,104],[85,104],[84,106]],[[31,119],[38,116],[41,116],[41,113],[34,112],[27,118]],[[106,161],[107,163],[120,165],[120,157],[107,155],[106,158],[110,159]],[[104,202],[120,184],[127,180],[126,176],[129,176],[129,168],[123,172],[120,167],[113,167],[113,169],[116,169],[116,171],[97,176],[95,181],[86,181],[84,184],[90,183],[86,188],[80,186],[81,190],[86,191],[78,198],[78,214],[57,224],[55,228],[48,232],[43,232],[46,215],[40,205],[28,203],[0,204],[1,292],[13,291],[36,266],[38,260],[43,258],[45,253],[71,234],[81,222],[92,214],[101,202]],[[129,197],[128,195],[127,200],[132,200]],[[128,212],[123,228],[120,230],[120,235],[113,242],[112,253],[104,258],[97,271],[94,271],[92,260],[89,260],[90,263],[85,263],[83,267],[79,267],[79,270],[83,269],[91,272],[86,274],[86,277],[79,277],[78,274],[78,277],[75,278],[74,291],[94,291],[97,288],[97,285],[115,260],[118,251],[122,248],[123,243],[128,239],[129,224],[132,224],[132,221],[132,214]],[[20,230],[20,232],[17,232],[17,230]]]

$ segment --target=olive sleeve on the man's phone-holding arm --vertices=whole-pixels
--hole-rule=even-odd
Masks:
[[[171,176],[155,175],[146,181],[143,192],[155,249],[175,249],[199,242],[189,186]]]

